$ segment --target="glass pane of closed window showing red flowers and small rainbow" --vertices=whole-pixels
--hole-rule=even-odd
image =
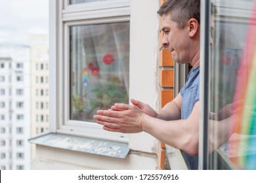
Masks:
[[[129,22],[70,27],[70,119],[128,103]]]

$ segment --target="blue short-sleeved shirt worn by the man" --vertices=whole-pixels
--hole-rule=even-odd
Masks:
[[[181,89],[182,104],[181,104],[181,119],[184,120],[190,116],[192,109],[197,101],[199,101],[199,72],[200,67],[196,69],[192,68],[188,77],[186,78],[186,84]],[[188,165],[188,169],[198,169],[198,156],[189,156],[186,152],[182,152],[182,155]]]

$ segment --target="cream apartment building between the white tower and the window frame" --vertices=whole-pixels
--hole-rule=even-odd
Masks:
[[[31,59],[31,137],[49,129],[49,36],[34,35],[29,39]],[[35,145],[32,144],[32,159]]]

